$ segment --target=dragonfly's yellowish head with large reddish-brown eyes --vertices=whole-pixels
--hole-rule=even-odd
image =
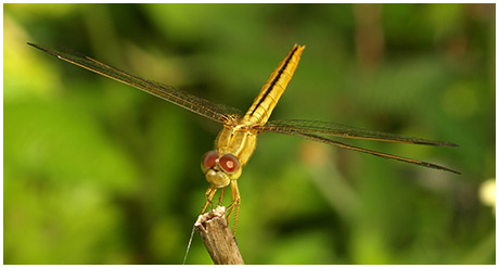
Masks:
[[[209,151],[203,155],[201,169],[206,180],[217,188],[229,186],[231,180],[236,180],[242,173],[241,164],[233,154],[218,155],[217,151]]]

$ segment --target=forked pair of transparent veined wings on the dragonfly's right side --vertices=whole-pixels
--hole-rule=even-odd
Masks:
[[[273,122],[269,122],[265,126],[255,127],[255,129],[263,130],[263,131],[271,131],[271,132],[277,132],[277,133],[285,133],[285,135],[290,135],[290,136],[294,136],[298,138],[304,138],[304,139],[314,140],[314,141],[318,141],[318,142],[322,142],[327,144],[336,145],[336,146],[348,149],[348,150],[354,150],[354,151],[361,152],[361,153],[368,153],[368,154],[381,156],[384,158],[391,158],[391,159],[411,163],[414,165],[424,166],[428,168],[442,169],[442,170],[447,170],[447,171],[455,173],[455,174],[461,174],[448,167],[349,145],[343,142],[331,140],[323,136],[336,136],[336,137],[343,137],[343,138],[379,140],[379,141],[388,141],[388,142],[405,142],[405,143],[438,145],[438,146],[457,146],[457,144],[453,144],[450,142],[431,141],[431,140],[420,139],[420,138],[402,137],[402,136],[397,136],[397,135],[392,135],[392,133],[348,127],[348,126],[341,125],[341,124],[316,122],[316,120],[298,120],[298,119],[273,120]]]

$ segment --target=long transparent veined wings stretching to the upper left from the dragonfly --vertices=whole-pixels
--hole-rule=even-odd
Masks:
[[[219,122],[222,124],[231,124],[232,122],[238,120],[241,117],[241,112],[236,109],[217,104],[202,98],[197,98],[193,94],[179,90],[172,86],[146,80],[138,76],[127,74],[120,69],[98,62],[84,54],[79,54],[77,52],[61,52],[29,42],[28,44],[68,63],[75,64],[82,68],[89,69],[93,73],[106,76],[108,78],[115,79],[123,84],[138,88],[144,92],[158,97],[163,100],[169,101],[174,104],[177,104],[181,107],[184,107],[212,120]]]

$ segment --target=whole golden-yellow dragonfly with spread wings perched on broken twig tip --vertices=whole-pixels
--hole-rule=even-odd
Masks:
[[[220,190],[218,203],[220,205],[223,199],[223,192],[226,188],[230,186],[232,203],[227,207],[227,217],[230,217],[235,209],[234,233],[241,206],[238,179],[241,177],[243,166],[246,165],[255,151],[256,138],[261,132],[276,132],[294,136],[384,158],[460,174],[459,171],[445,166],[349,145],[344,142],[332,140],[331,137],[436,146],[457,146],[455,143],[414,137],[404,137],[394,133],[349,127],[336,123],[305,119],[269,120],[270,114],[278,104],[281,95],[284,93],[284,90],[298,66],[305,46],[294,44],[287,55],[270,74],[270,77],[261,87],[260,92],[255,98],[252,106],[245,114],[242,114],[238,109],[214,103],[172,86],[130,75],[78,52],[61,52],[54,49],[43,48],[35,43],[28,42],[28,44],[71,64],[138,88],[208,119],[221,123],[223,125],[223,129],[216,138],[215,149],[205,153],[201,161],[201,168],[205,174],[206,180],[209,182],[209,187],[205,193],[206,204],[201,214],[206,210],[208,205],[213,205],[213,199],[217,190]]]

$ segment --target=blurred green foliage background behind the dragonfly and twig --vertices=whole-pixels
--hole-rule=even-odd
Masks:
[[[5,264],[181,264],[220,130],[27,41],[242,111],[306,44],[271,118],[455,142],[346,141],[462,175],[264,133],[239,180],[245,263],[495,264],[495,4],[3,8]],[[212,264],[197,234],[187,264]]]

